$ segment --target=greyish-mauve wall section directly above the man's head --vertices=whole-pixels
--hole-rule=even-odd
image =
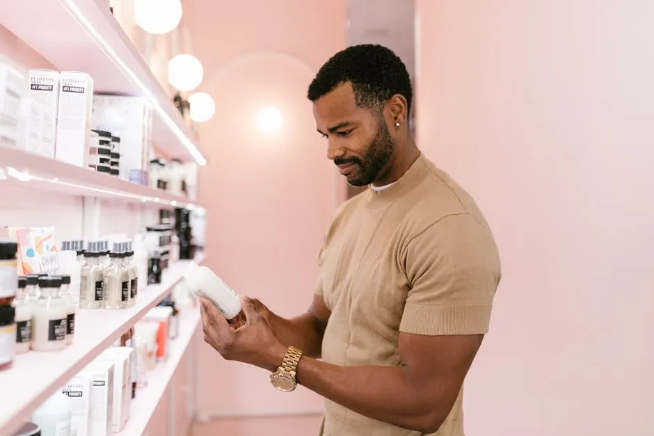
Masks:
[[[381,44],[415,72],[413,0],[348,0],[348,44]]]

